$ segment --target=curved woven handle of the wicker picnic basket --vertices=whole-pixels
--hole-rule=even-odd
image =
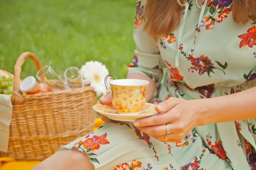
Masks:
[[[20,91],[20,73],[22,64],[25,62],[26,58],[30,58],[34,65],[36,66],[36,71],[39,71],[42,68],[38,57],[34,53],[25,52],[22,53],[14,66],[14,80],[13,80],[13,93],[11,95],[11,102],[23,102],[24,99],[21,97],[22,92]]]

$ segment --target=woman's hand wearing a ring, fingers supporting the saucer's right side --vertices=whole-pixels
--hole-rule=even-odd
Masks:
[[[137,119],[134,125],[159,141],[179,142],[198,126],[196,113],[201,106],[194,101],[171,97],[155,106],[160,114]]]

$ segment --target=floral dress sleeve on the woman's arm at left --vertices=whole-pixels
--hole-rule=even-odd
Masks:
[[[143,3],[145,3],[143,0],[140,1],[140,3],[137,3],[135,26],[133,31],[136,50],[132,63],[128,66],[128,74],[140,73],[147,75],[155,81],[157,86],[159,86],[163,77],[162,68],[165,64],[159,54],[155,40],[143,30]]]

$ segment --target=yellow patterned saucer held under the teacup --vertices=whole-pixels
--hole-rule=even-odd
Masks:
[[[109,119],[117,121],[135,121],[136,119],[148,117],[157,114],[155,110],[155,104],[146,103],[146,105],[141,109],[138,115],[132,114],[119,114],[117,109],[112,104],[96,104],[92,107],[96,112],[105,115]]]

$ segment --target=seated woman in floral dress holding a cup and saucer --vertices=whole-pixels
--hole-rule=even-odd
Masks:
[[[105,123],[33,170],[255,170],[255,9],[255,0],[138,1],[127,78],[148,80],[147,101],[163,114]]]

